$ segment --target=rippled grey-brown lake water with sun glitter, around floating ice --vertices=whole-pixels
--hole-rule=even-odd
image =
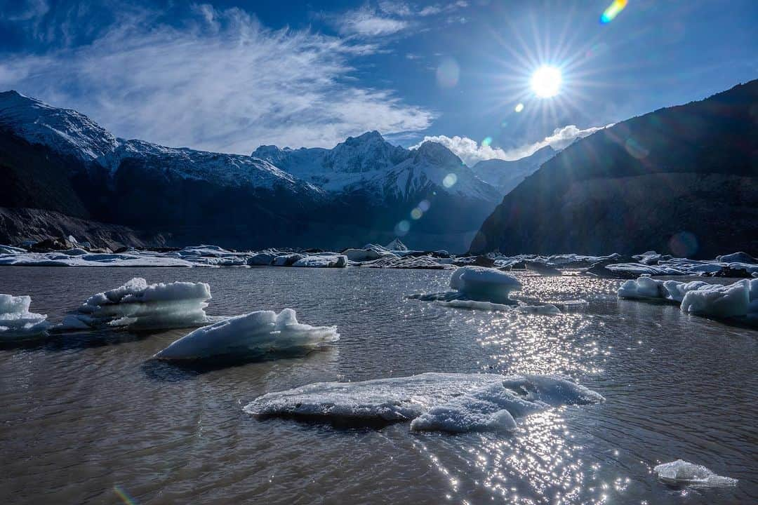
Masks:
[[[405,295],[449,272],[5,267],[0,292],[58,322],[133,276],[211,285],[208,313],[292,307],[341,338],[307,357],[186,369],[150,357],[185,330],[60,335],[0,348],[4,503],[756,503],[758,332],[619,301],[620,281],[519,274],[560,315],[453,309]],[[260,394],[423,372],[559,373],[606,397],[512,435],[258,420]],[[677,489],[684,459],[740,482]]]

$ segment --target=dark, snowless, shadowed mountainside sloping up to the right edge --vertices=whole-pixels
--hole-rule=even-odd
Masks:
[[[758,80],[617,123],[503,199],[472,252],[758,254]]]

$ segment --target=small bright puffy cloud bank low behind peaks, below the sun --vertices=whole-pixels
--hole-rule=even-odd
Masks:
[[[506,160],[514,161],[520,160],[522,157],[531,156],[539,149],[550,145],[553,149],[560,150],[567,145],[574,142],[576,139],[583,139],[586,136],[597,132],[600,129],[612,126],[592,126],[587,129],[579,129],[573,124],[563,126],[562,128],[556,128],[553,130],[553,135],[547,136],[539,142],[533,144],[522,145],[518,148],[503,150],[501,148],[493,148],[490,145],[479,144],[473,139],[468,137],[448,137],[444,135],[439,136],[425,136],[424,140],[417,145],[411,147],[411,149],[418,148],[424,142],[438,142],[453,151],[458,155],[461,160],[469,167],[477,164],[479,161],[484,160]]]

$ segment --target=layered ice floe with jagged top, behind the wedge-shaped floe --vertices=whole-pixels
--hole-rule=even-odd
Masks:
[[[126,284],[87,298],[66,316],[58,329],[168,329],[208,323],[206,303],[211,287],[205,282],[148,284],[135,277]]]

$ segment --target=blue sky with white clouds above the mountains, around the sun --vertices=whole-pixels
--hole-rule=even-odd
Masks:
[[[0,89],[164,145],[331,147],[377,129],[475,163],[758,77],[758,2],[629,0],[600,23],[609,3],[0,0]],[[553,98],[529,86],[543,64],[562,70]]]

